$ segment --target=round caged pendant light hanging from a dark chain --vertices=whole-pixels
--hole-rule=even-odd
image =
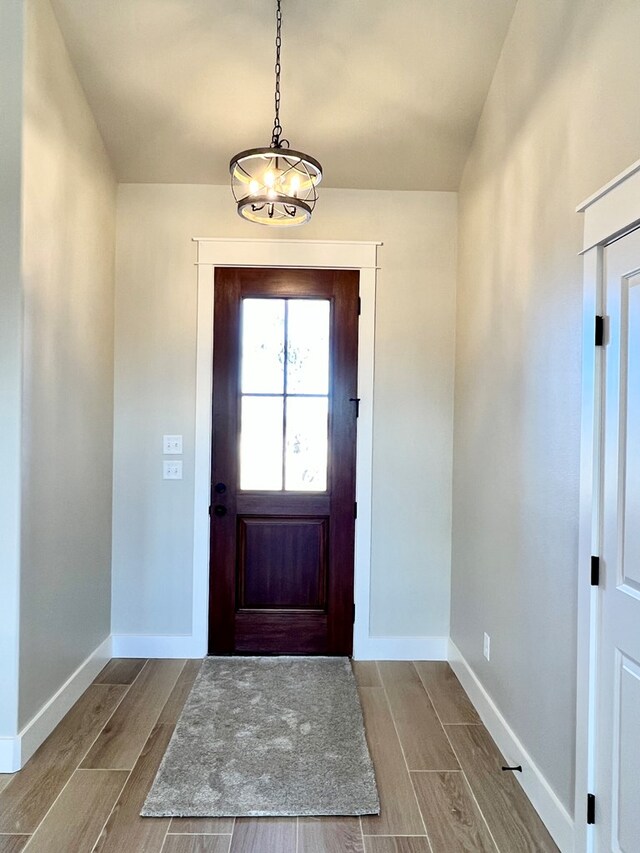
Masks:
[[[302,225],[311,218],[322,180],[322,166],[294,151],[282,137],[280,124],[280,48],[282,10],[276,0],[275,118],[271,145],[236,154],[229,163],[231,189],[238,213],[261,225]]]

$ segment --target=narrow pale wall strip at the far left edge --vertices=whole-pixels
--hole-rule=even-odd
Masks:
[[[22,287],[22,0],[0,3],[0,738],[18,716]]]

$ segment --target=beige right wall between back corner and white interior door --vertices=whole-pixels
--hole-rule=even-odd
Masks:
[[[636,0],[520,0],[460,192],[452,637],[570,811],[574,208],[640,156],[638,33]]]

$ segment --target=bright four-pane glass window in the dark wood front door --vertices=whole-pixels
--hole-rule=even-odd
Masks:
[[[328,299],[242,300],[240,488],[327,489]]]

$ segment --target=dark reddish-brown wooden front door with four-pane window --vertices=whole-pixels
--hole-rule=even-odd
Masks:
[[[351,654],[358,280],[216,270],[210,654]]]

